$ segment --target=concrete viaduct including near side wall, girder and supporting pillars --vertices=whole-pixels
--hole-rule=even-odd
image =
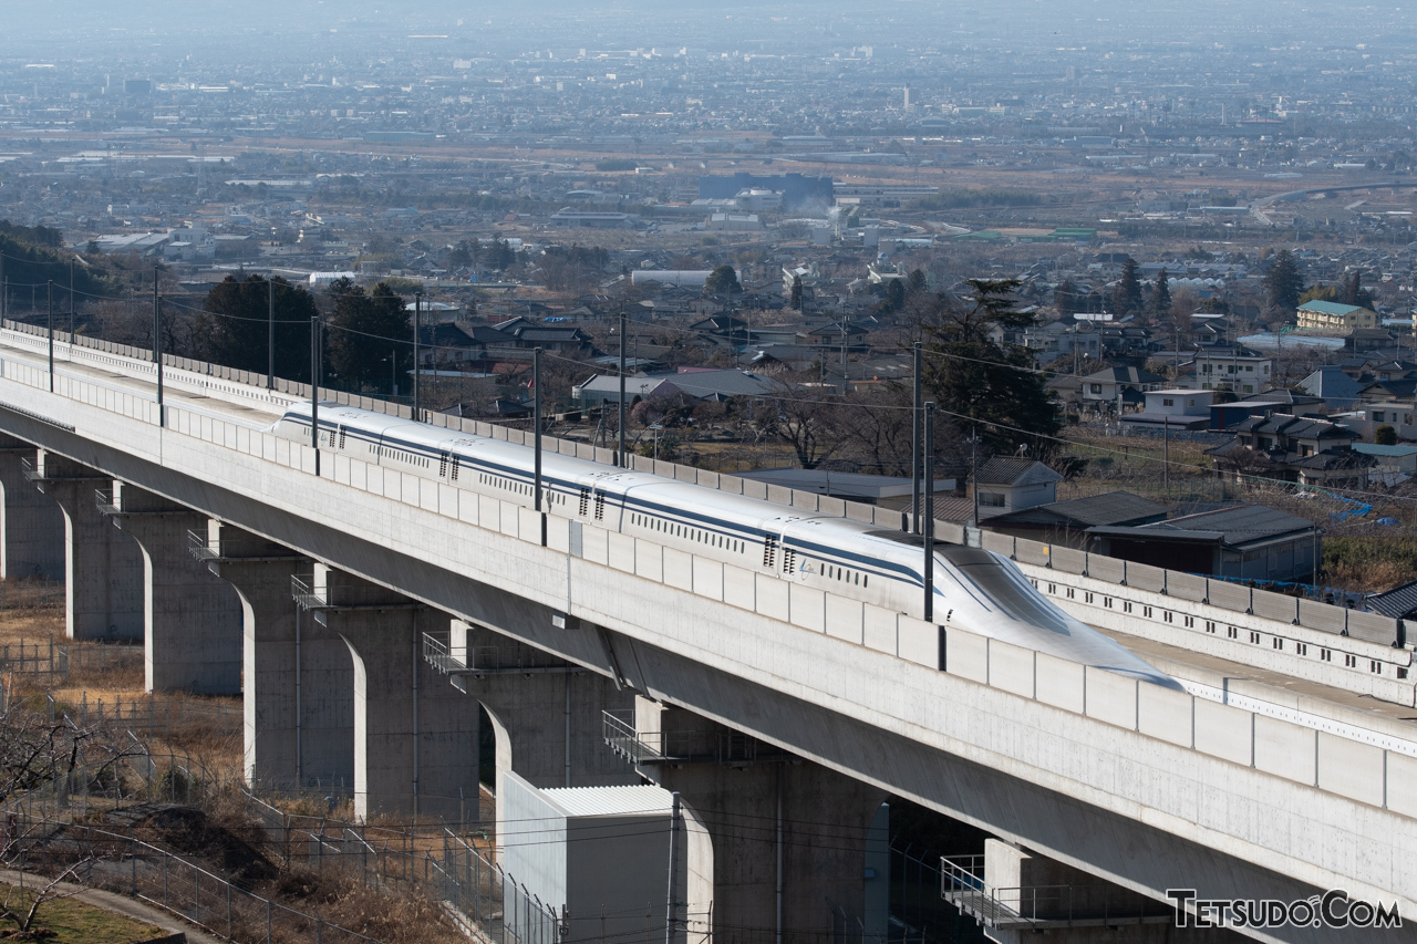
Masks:
[[[317,456],[264,432],[306,388],[163,370],[159,405],[146,352],[0,330],[4,563],[62,567],[68,632],[142,638],[150,689],[241,693],[252,781],[344,780],[361,814],[455,815],[478,788],[480,706],[499,777],[643,772],[680,791],[711,838],[723,940],[823,933],[826,901],[859,914],[888,795],[1153,900],[1339,887],[1417,920],[1417,757],[1391,738],[945,634],[574,509],[543,522],[469,485]],[[792,833],[785,862],[774,824]]]

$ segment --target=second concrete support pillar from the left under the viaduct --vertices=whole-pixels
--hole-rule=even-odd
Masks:
[[[27,476],[64,515],[64,629],[71,639],[143,638],[143,553],[98,509],[112,479],[45,449]]]

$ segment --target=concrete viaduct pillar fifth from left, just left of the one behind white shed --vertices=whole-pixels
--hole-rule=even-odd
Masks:
[[[478,797],[478,704],[422,651],[448,617],[323,564],[310,597],[353,661],[356,815],[456,818]]]

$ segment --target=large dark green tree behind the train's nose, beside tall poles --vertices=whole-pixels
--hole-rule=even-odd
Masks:
[[[1039,437],[1061,428],[1051,394],[1033,371],[1027,347],[996,340],[1034,323],[1032,313],[1017,309],[1020,285],[1017,279],[969,279],[972,298],[938,315],[930,344],[937,357],[930,359],[922,383],[955,422],[978,428],[988,449],[1012,454],[1027,445],[1030,455],[1046,458],[1054,444]]]

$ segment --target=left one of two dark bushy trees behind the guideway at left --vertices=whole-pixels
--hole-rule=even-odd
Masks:
[[[272,295],[272,286],[275,292]],[[275,300],[275,376],[310,378],[315,296],[282,278],[228,275],[211,286],[197,323],[198,357],[264,374],[269,364],[271,302]]]

